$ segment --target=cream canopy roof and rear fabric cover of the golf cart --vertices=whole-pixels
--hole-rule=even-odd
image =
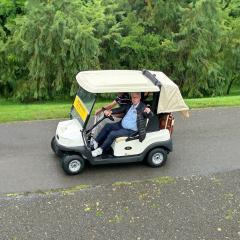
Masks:
[[[149,71],[161,83],[161,93],[157,113],[183,112],[188,116],[188,106],[185,104],[178,86],[160,71]],[[76,76],[78,84],[88,92],[159,92],[156,86],[142,71],[137,70],[98,70],[84,71]]]

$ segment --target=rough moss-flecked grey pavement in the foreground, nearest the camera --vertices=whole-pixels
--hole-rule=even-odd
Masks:
[[[0,239],[239,240],[239,174],[0,196]]]

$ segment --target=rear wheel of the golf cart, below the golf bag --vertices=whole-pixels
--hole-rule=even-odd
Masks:
[[[162,148],[151,150],[147,157],[147,163],[150,167],[162,167],[167,161],[167,152]]]

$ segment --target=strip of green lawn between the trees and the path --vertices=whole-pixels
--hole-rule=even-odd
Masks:
[[[190,109],[218,106],[240,106],[240,95],[215,98],[185,99]],[[106,102],[96,104],[95,109]],[[34,104],[20,104],[14,101],[0,99],[0,123],[23,120],[42,120],[68,118],[72,103],[45,102]],[[94,109],[94,110],[95,110]]]

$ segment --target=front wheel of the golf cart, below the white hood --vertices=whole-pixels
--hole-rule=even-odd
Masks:
[[[78,155],[67,155],[62,159],[62,168],[68,175],[80,173],[85,166],[84,160]]]

